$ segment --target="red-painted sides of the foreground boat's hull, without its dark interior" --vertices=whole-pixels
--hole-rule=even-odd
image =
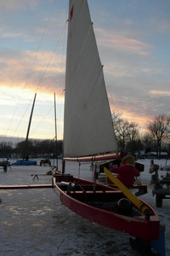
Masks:
[[[67,181],[69,181],[69,179]],[[77,183],[77,181],[81,183],[82,186],[94,184],[88,181],[71,177],[71,182]],[[125,232],[130,236],[144,239],[146,241],[156,240],[159,238],[159,218],[154,209],[145,202],[144,204],[150,208],[150,218],[146,218],[144,215],[141,216],[141,214],[129,217],[118,214],[116,212],[107,211],[99,207],[90,206],[82,199],[80,201],[80,198],[84,196],[87,198],[87,201],[88,197],[91,196],[93,196],[95,200],[97,200],[97,198],[99,199],[99,197],[101,196],[103,198],[105,197],[105,199],[107,199],[108,197],[112,197],[113,199],[124,197],[120,190],[109,188],[108,186],[105,185],[97,184],[99,190],[95,192],[75,190],[67,193],[66,191],[63,191],[61,188],[59,188],[59,185],[56,184],[55,181],[54,185],[59,190],[60,201],[63,203],[63,205],[65,205],[65,207],[68,207],[72,212],[76,212],[83,218],[87,218],[88,220],[94,223],[103,225],[113,230]]]

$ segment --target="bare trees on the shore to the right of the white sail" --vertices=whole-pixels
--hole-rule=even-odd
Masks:
[[[139,125],[121,118],[121,114],[112,114],[113,126],[118,148],[123,153],[145,153],[155,151],[156,157],[161,158],[161,152],[170,151],[170,117],[158,114],[148,122],[147,132],[139,133]]]

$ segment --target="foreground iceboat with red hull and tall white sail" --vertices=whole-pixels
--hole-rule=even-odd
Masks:
[[[67,160],[94,163],[121,158],[86,0],[71,0],[69,4],[63,154],[62,174],[54,174],[53,185],[65,207],[82,218],[144,241],[158,239],[159,218],[146,202],[140,201],[137,207],[117,187],[65,173]]]

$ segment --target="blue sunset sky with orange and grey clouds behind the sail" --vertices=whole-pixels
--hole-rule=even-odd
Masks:
[[[0,0],[0,138],[63,136],[68,0]],[[170,1],[88,0],[111,112],[170,115]],[[4,140],[4,138],[3,138]]]

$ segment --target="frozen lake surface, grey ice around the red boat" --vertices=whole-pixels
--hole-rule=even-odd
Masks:
[[[156,208],[156,198],[150,186],[150,160],[140,160],[145,165],[141,182],[149,185],[148,194],[141,199],[156,209],[161,224],[166,225],[166,252],[170,255],[170,201],[164,200]],[[163,166],[165,160],[155,160]],[[59,163],[60,164],[60,163]],[[59,165],[60,166],[60,165]],[[78,165],[67,164],[74,175]],[[51,183],[45,176],[48,166],[12,166],[8,172],[0,170],[0,184]],[[69,171],[67,171],[69,172]],[[92,179],[89,165],[81,166],[81,177]],[[165,174],[165,172],[159,172]],[[31,174],[39,174],[39,180]],[[0,255],[135,255],[129,246],[129,236],[92,224],[63,207],[53,189],[0,190]]]

